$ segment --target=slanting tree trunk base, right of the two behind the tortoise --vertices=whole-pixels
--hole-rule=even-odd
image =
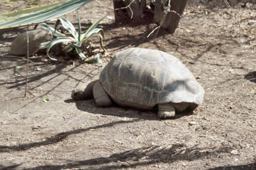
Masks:
[[[171,34],[174,33],[187,3],[188,0],[171,0],[171,8],[168,9],[168,0],[156,0],[154,22],[161,24],[161,27],[167,29]],[[169,10],[170,12],[168,12]],[[172,11],[179,13],[180,16]]]

